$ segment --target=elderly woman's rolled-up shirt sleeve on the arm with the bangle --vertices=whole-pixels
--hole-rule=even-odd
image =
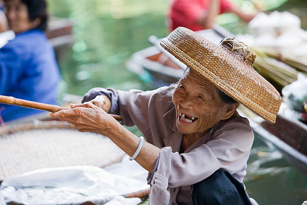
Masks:
[[[171,147],[163,148],[150,185],[167,191],[169,188],[202,181],[219,168],[231,174],[240,171],[247,162],[253,142],[249,125],[242,122],[226,123],[216,131],[215,137],[215,140],[189,153],[173,153]]]

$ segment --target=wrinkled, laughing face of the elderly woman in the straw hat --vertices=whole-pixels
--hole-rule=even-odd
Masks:
[[[191,71],[179,81],[173,93],[177,128],[183,134],[205,134],[223,119],[225,106],[217,88],[205,79],[193,77]]]

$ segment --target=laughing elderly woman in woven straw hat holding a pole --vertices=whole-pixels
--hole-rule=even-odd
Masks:
[[[149,172],[149,204],[256,204],[242,183],[253,143],[243,104],[273,123],[281,97],[252,68],[255,55],[232,38],[217,46],[179,27],[161,45],[188,68],[152,91],[93,88],[80,105],[50,114],[81,132],[108,136]],[[122,124],[136,125],[138,138]]]

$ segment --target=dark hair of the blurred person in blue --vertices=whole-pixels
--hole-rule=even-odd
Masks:
[[[10,0],[4,0],[9,2]],[[28,8],[30,21],[39,18],[41,23],[35,28],[42,31],[47,30],[49,15],[47,13],[47,3],[45,0],[20,0]]]

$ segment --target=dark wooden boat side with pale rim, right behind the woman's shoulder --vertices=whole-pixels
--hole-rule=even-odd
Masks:
[[[239,113],[248,118],[250,127],[262,141],[273,144],[289,164],[307,175],[307,125],[288,115],[292,110],[284,107],[287,106],[282,102],[275,124],[255,116],[246,108],[241,107]]]

